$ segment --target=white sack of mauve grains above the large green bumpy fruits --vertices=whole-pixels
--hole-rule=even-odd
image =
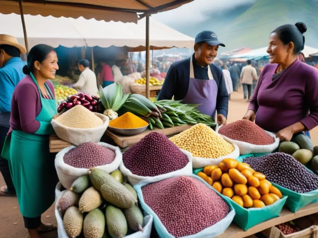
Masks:
[[[82,175],[88,175],[89,168],[98,168],[111,173],[122,161],[119,147],[104,142],[86,142],[69,146],[55,156],[55,169],[63,187],[69,189]]]

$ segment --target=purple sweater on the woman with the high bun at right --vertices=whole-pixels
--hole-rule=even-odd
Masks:
[[[318,70],[297,58],[276,80],[278,64],[266,64],[248,109],[257,112],[255,123],[278,132],[296,122],[307,130],[318,125]],[[310,111],[310,113],[309,113]]]

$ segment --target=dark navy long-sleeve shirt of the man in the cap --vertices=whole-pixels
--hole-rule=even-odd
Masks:
[[[209,80],[208,66],[200,66],[192,56],[194,77],[202,80]],[[226,90],[222,69],[212,63],[210,66],[213,79],[218,85],[216,109],[218,114],[227,117],[229,108],[229,95]],[[165,77],[158,100],[183,100],[187,95],[190,81],[190,58],[173,63]]]

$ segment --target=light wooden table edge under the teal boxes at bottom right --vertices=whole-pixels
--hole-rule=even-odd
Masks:
[[[280,223],[284,223],[287,221],[294,220],[299,217],[307,216],[310,214],[314,214],[318,212],[318,202],[309,204],[308,206],[301,208],[297,212],[293,213],[287,210],[286,208],[283,208],[280,212],[280,216],[273,218],[268,221],[264,221],[256,226],[253,226],[252,228],[244,231],[241,228],[239,228],[234,222],[225,230],[225,232],[222,235],[217,236],[216,238],[242,238],[247,237],[253,234],[256,234],[260,231],[263,231],[267,228],[276,226]]]

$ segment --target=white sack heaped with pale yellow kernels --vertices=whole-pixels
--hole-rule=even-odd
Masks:
[[[169,138],[180,149],[192,153],[192,167],[218,165],[223,159],[237,159],[239,147],[223,139],[205,124],[199,123]]]

